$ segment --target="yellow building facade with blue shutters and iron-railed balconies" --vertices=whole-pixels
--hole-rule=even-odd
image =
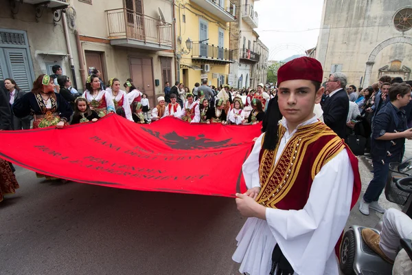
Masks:
[[[229,0],[176,0],[176,59],[178,80],[190,88],[207,79],[216,87],[227,83],[229,22],[235,5]]]

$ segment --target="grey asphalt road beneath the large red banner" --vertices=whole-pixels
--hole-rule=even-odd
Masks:
[[[234,199],[44,181],[0,203],[0,274],[239,274]]]

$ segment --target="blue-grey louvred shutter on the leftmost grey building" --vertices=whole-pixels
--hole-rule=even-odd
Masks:
[[[32,75],[27,62],[26,51],[23,49],[5,49],[5,59],[10,67],[10,76],[20,89],[30,91],[32,89]]]

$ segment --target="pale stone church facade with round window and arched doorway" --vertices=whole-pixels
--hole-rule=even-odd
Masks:
[[[411,80],[411,14],[410,0],[325,0],[314,51],[324,79],[343,72],[362,87],[382,75]]]

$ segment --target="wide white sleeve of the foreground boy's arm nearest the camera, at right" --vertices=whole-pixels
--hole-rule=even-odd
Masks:
[[[266,208],[266,221],[297,274],[323,274],[350,214],[354,173],[346,149],[314,177],[301,210]]]

